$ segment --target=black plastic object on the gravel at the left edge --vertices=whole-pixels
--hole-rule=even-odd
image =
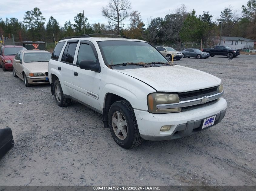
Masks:
[[[13,147],[13,145],[14,140],[12,136],[12,129],[9,127],[0,129],[0,158],[2,158],[2,156],[4,156],[4,154]]]

